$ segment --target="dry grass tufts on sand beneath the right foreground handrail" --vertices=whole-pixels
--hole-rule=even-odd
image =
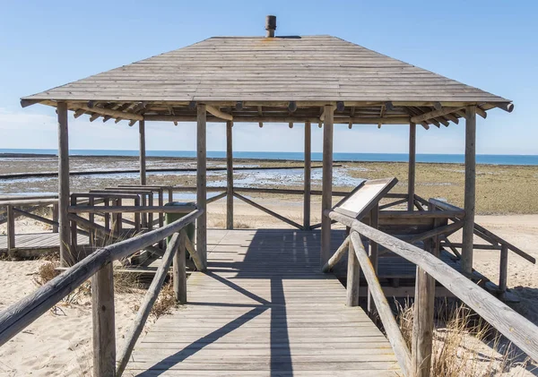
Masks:
[[[398,321],[411,349],[413,306],[398,306]],[[517,367],[534,370],[527,358],[464,304],[441,305],[433,334],[431,377],[490,377]]]

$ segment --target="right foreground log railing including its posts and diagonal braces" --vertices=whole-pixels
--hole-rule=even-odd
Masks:
[[[369,295],[373,298],[379,318],[386,330],[386,336],[406,377],[430,376],[436,280],[517,347],[520,347],[534,361],[538,361],[538,327],[445,262],[440,261],[432,250],[433,243],[429,240],[425,243],[427,250],[422,250],[343,214],[329,210],[325,211],[325,216],[350,228],[350,236],[334,254],[336,257],[332,258],[334,263],[334,260],[345,253],[345,249],[349,253],[347,303],[357,305],[359,302],[361,269],[368,282]],[[377,278],[377,268],[374,267],[364,249],[362,237],[385,247],[417,266],[411,350],[406,346],[395,317],[386,302]]]

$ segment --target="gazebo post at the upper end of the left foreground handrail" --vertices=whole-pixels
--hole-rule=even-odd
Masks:
[[[197,109],[197,129],[196,129],[196,204],[204,213],[196,221],[196,251],[202,262],[203,270],[207,268],[207,187],[206,187],[206,120],[207,113],[205,105],[199,104]]]

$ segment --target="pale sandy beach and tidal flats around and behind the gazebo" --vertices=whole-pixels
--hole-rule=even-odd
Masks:
[[[56,159],[43,158],[39,163],[29,159],[13,159],[0,167],[2,173],[54,171]],[[192,167],[190,159],[149,159],[148,167]],[[238,166],[296,166],[297,170],[274,170],[237,172],[236,185],[279,188],[301,188],[302,176],[298,162],[236,161]],[[212,160],[210,166],[222,166],[220,160]],[[400,183],[395,192],[406,191],[406,169],[403,163],[343,163],[335,167],[334,187],[351,190],[361,179],[397,176]],[[104,169],[107,167],[137,166],[136,159],[129,158],[74,158],[72,169]],[[313,171],[313,188],[320,188],[321,172]],[[417,194],[424,198],[438,197],[456,205],[463,204],[463,167],[457,164],[418,164]],[[225,184],[225,172],[208,175],[209,184]],[[75,176],[72,178],[74,191],[114,186],[118,183],[136,183],[136,175]],[[194,185],[194,174],[152,173],[148,184]],[[479,166],[477,168],[477,210],[476,222],[502,236],[512,244],[538,258],[538,167]],[[55,193],[55,178],[13,179],[0,182],[3,194]],[[302,197],[292,195],[249,195],[266,207],[276,210],[291,219],[302,221]],[[177,200],[189,199],[178,195]],[[191,198],[192,199],[192,198]],[[320,219],[320,198],[313,197],[312,222]],[[277,219],[266,215],[247,204],[235,201],[236,227],[286,227]],[[225,200],[216,201],[208,208],[208,226],[223,227],[225,224]],[[30,219],[18,219],[18,232],[43,231],[43,226]],[[0,233],[5,226],[0,226]],[[457,236],[457,235],[456,235]],[[53,257],[54,259],[54,257]],[[538,267],[514,253],[509,255],[508,287],[519,296],[520,303],[512,304],[529,320],[538,324]],[[48,260],[0,261],[0,309],[13,304],[39,287],[39,267]],[[474,266],[493,281],[499,278],[499,252],[476,251]],[[134,318],[136,305],[143,297],[143,289],[116,296],[117,342]],[[8,344],[0,348],[1,376],[85,376],[91,371],[91,297],[83,290],[72,303],[58,304],[55,310],[43,315]],[[147,325],[150,328],[152,318]],[[534,375],[523,368],[514,367],[507,371],[510,376]]]

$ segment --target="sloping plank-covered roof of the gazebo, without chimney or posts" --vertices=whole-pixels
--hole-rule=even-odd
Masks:
[[[206,39],[24,99],[509,102],[331,36]]]

